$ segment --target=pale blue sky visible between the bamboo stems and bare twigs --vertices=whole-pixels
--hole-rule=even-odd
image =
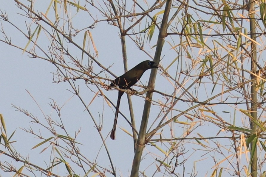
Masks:
[[[22,12],[18,10],[18,8],[15,5],[15,2],[4,1],[4,0],[1,0],[0,2],[2,4],[1,5],[2,7],[0,9],[6,10],[10,21],[14,21],[14,23],[18,24],[18,26],[20,26],[21,29],[25,31],[24,21],[26,20],[27,23],[30,23],[30,21],[26,18],[21,17],[21,15],[18,14]],[[27,1],[24,2],[26,4],[29,4]],[[47,9],[47,3],[49,4],[48,1],[47,2],[43,1],[42,3],[35,4],[35,9],[38,9],[38,11],[41,12],[45,12]],[[72,13],[76,13],[75,10],[73,10]],[[73,26],[82,29],[84,26],[86,27],[89,24],[91,24],[92,22],[90,21],[90,18],[86,17],[86,15],[87,14],[82,11],[79,12],[77,15],[72,14],[72,16],[74,17],[72,19]],[[100,18],[101,17],[99,16],[99,19]],[[10,26],[10,24],[5,23],[4,21],[2,21],[2,24],[4,31],[7,33],[7,35],[9,37],[12,37],[11,40],[13,43],[22,48],[26,46],[27,39],[23,35],[19,34],[19,32],[15,30],[12,26]],[[32,31],[34,31],[35,28],[36,26],[35,24],[33,24]],[[122,65],[123,60],[122,60],[121,43],[120,43],[118,28],[107,25],[106,22],[100,22],[95,26],[95,29],[91,30],[91,32],[94,38],[95,45],[99,52],[97,58],[98,61],[102,63],[106,68],[112,65],[110,71],[112,71],[117,76],[123,74],[124,69]],[[82,46],[83,42],[83,33],[84,32],[81,32],[79,35],[73,38],[73,40],[76,43],[78,43],[80,46]],[[155,45],[157,35],[158,34],[156,33],[151,43],[147,42],[145,46],[151,56],[154,56],[155,48],[151,49],[151,47]],[[4,39],[2,35],[0,39],[2,40]],[[169,42],[174,41],[176,44],[179,43],[179,37],[177,35],[173,36],[172,38],[167,37],[166,40]],[[45,50],[47,50],[47,45],[49,45],[49,43],[47,43],[44,34],[41,35],[38,41],[40,45],[43,46]],[[144,54],[144,52],[137,49],[135,44],[128,37],[126,38],[126,44],[127,44],[127,57],[128,57],[129,69],[137,65],[139,62],[142,62],[143,60],[151,59],[149,58],[149,56]],[[32,44],[30,47],[32,47]],[[42,111],[44,112],[45,116],[47,117],[49,116],[53,120],[59,121],[57,113],[49,105],[49,103],[51,103],[52,100],[54,100],[56,104],[59,105],[59,107],[64,105],[61,109],[61,118],[64,121],[64,126],[66,127],[66,130],[69,132],[69,134],[74,137],[75,132],[78,132],[79,129],[81,130],[77,138],[77,141],[82,144],[78,145],[78,148],[80,149],[81,153],[91,161],[97,158],[96,162],[98,163],[98,165],[109,168],[110,163],[106,157],[106,151],[104,150],[103,147],[101,148],[100,153],[98,155],[98,151],[102,146],[102,141],[100,140],[100,136],[97,130],[95,129],[95,126],[91,118],[89,117],[88,113],[84,112],[85,108],[81,104],[81,101],[77,98],[77,96],[75,95],[73,96],[73,93],[68,91],[68,90],[72,91],[72,89],[67,82],[60,82],[58,84],[53,83],[52,73],[56,71],[55,66],[41,59],[29,58],[26,53],[22,54],[21,50],[8,46],[7,44],[4,44],[2,42],[0,42],[0,48],[2,56],[0,59],[0,75],[1,75],[0,113],[4,116],[7,125],[8,136],[10,136],[10,134],[12,134],[12,132],[16,130],[16,133],[14,134],[12,140],[17,141],[13,143],[13,146],[17,149],[17,151],[24,157],[28,156],[32,163],[36,163],[37,165],[40,165],[44,168],[46,167],[44,161],[49,163],[51,147],[48,148],[47,151],[41,154],[39,153],[42,151],[43,148],[47,147],[48,144],[42,145],[41,147],[31,150],[31,148],[36,144],[38,144],[39,142],[41,142],[41,140],[36,139],[33,135],[26,133],[22,129],[32,128],[36,133],[41,132],[41,135],[46,138],[49,138],[52,135],[43,127],[31,123],[30,118],[28,118],[26,115],[24,115],[21,112],[17,112],[16,109],[13,108],[11,104],[18,106],[21,109],[26,109],[27,111],[29,111],[29,113],[33,114],[34,116],[37,116],[41,122],[47,124],[42,114]],[[77,48],[75,48],[74,46],[69,45],[69,51],[71,51],[75,57],[77,58],[81,57],[81,51],[77,50]],[[192,55],[197,56],[197,51],[195,51],[195,53]],[[171,46],[169,46],[168,43],[165,43],[162,53],[162,57],[163,56],[165,57],[163,58],[160,64],[162,65],[163,68],[166,68],[177,57],[177,54],[176,52],[171,50]],[[186,61],[189,60],[186,58],[185,53],[183,53],[183,57],[184,60]],[[86,59],[87,57],[85,56],[84,60],[86,61]],[[95,72],[100,71],[100,68],[95,63],[93,64],[93,67]],[[168,70],[168,72],[171,73],[172,76],[175,75],[176,67],[177,67],[177,62]],[[141,78],[141,82],[144,85],[147,85],[150,71],[151,70],[146,71]],[[196,72],[198,71],[196,70]],[[101,77],[107,76],[110,79],[114,79],[114,77],[107,72],[101,73],[100,76]],[[189,82],[191,83],[191,81]],[[94,93],[91,92],[87,86],[91,86],[92,90],[94,91],[97,90],[92,85],[86,86],[83,80],[77,80],[75,83],[79,86],[80,95],[86,101],[86,104],[89,104],[89,102],[94,97]],[[206,84],[204,86],[201,85],[202,90],[204,90],[205,87],[206,90],[211,91],[213,87],[213,85],[211,84],[212,83]],[[185,87],[188,87],[188,85],[189,84],[187,84]],[[191,90],[195,90],[197,92],[197,89],[198,88],[192,88]],[[214,93],[219,93],[220,89],[221,88],[218,87]],[[30,95],[32,95],[32,97],[34,98],[34,100],[37,102],[38,105],[35,103],[33,98],[29,95],[29,93],[27,93],[26,90],[30,93]],[[162,72],[159,70],[157,72],[155,90],[159,90],[167,94],[168,93],[171,94],[174,91],[170,82],[162,75]],[[191,92],[195,93],[195,91]],[[109,91],[103,90],[103,92],[108,96],[108,98],[111,99],[111,101],[114,104],[116,104],[116,99],[118,94],[117,90],[115,89]],[[180,95],[181,93],[182,90],[178,92],[178,95]],[[225,97],[226,96],[224,96],[224,98]],[[136,126],[137,130],[139,130],[140,119],[143,112],[144,99],[136,95],[133,95],[131,98],[133,102]],[[165,98],[158,95],[157,93],[154,93],[153,99],[154,101],[165,102]],[[199,101],[206,100],[207,99],[206,93],[204,92],[198,93],[198,99]],[[228,99],[228,101],[229,100],[230,98]],[[219,102],[218,100],[215,101]],[[39,109],[38,106],[40,106],[41,110]],[[180,101],[180,103],[174,108],[184,111],[189,106],[191,106],[190,103],[183,103]],[[234,113],[233,106],[232,107],[219,106],[218,108],[217,107],[215,107],[215,109],[219,111],[218,113],[220,113],[220,116],[223,116],[223,118],[228,122],[232,120],[232,116]],[[151,126],[151,123],[160,112],[159,108],[160,106],[152,105],[148,128]],[[115,109],[113,107],[111,109],[106,104],[106,102],[103,100],[102,97],[96,97],[94,102],[89,106],[89,110],[92,112],[95,120],[97,121],[99,121],[99,115],[100,118],[102,118],[103,116],[103,129],[101,133],[103,134],[104,137],[107,137],[106,143],[108,145],[108,150],[110,152],[113,163],[116,167],[117,176],[129,176],[131,171],[132,160],[134,157],[133,140],[128,134],[121,131],[119,127],[126,129],[131,133],[132,130],[130,126],[123,119],[123,117],[119,115],[117,123],[116,140],[113,141],[109,138],[108,134],[112,129]],[[126,95],[123,95],[122,97],[120,104],[120,111],[128,119],[130,119]],[[228,111],[231,114],[222,113],[222,111]],[[177,115],[178,113],[179,113],[178,111],[173,111],[171,114],[168,115],[169,117],[167,117],[167,119],[170,119],[171,117]],[[179,121],[187,121],[187,118],[183,116],[179,119]],[[241,122],[240,118],[239,120],[237,120],[237,122],[238,121]],[[195,120],[195,122],[197,122],[197,120]],[[179,137],[184,131],[186,131],[185,128],[183,128],[185,126],[180,124],[174,124],[174,125],[175,126],[172,127],[172,129],[174,130],[175,137]],[[153,128],[155,126],[157,126],[157,124],[155,124]],[[211,123],[203,123],[200,124],[199,126],[200,127],[197,129],[197,131],[193,132],[189,137],[198,137],[196,133],[200,133],[204,137],[215,137],[220,130],[219,127],[214,126]],[[167,132],[164,134],[166,137],[170,137],[168,126],[164,127],[163,129],[160,129],[157,133],[160,133],[161,130]],[[64,132],[58,128],[57,132],[58,134],[64,134]],[[219,134],[219,136],[224,136],[225,134],[226,132],[222,132]],[[226,135],[231,136],[230,133]],[[159,136],[156,135],[154,138],[159,138]],[[225,145],[226,146],[225,148],[228,149],[231,148],[229,140],[213,140],[213,141],[215,143],[221,143],[222,145]],[[207,176],[210,176],[214,170],[213,168],[211,169],[211,167],[214,166],[212,157],[217,158],[216,159],[217,161],[220,161],[223,158],[225,158],[224,156],[221,156],[219,153],[210,153],[209,155],[206,155],[205,153],[208,153],[209,149],[208,151],[206,151],[205,148],[201,147],[194,140],[191,141],[186,140],[185,142],[188,142],[185,144],[186,151],[188,151],[188,153],[185,154],[185,158],[189,158],[185,166],[186,174],[193,173],[194,171],[192,171],[192,166],[195,165],[195,170],[196,173],[198,173],[198,176],[205,176],[205,174],[208,174]],[[209,140],[207,144],[209,143],[212,143],[212,141]],[[157,145],[160,146],[160,143],[157,143]],[[215,146],[213,147],[215,148]],[[167,148],[164,145],[161,145],[161,148],[164,151],[167,150]],[[145,174],[147,176],[152,176],[154,170],[156,169],[156,165],[152,164],[151,167],[149,167],[149,165],[151,165],[151,163],[154,162],[154,158],[157,158],[158,160],[163,160],[165,158],[165,155],[161,153],[158,149],[150,145],[147,145],[144,154],[146,153],[148,153],[148,155],[146,155],[143,158],[143,161],[141,162],[140,165],[140,170],[143,171],[146,168],[148,168]],[[58,157],[58,155],[56,156]],[[10,162],[10,159],[4,157],[3,155],[1,156],[1,158],[4,158],[5,160]],[[169,159],[171,159],[171,157]],[[242,161],[244,161],[243,159]],[[166,163],[169,164],[169,161],[166,161]],[[17,164],[18,168],[23,165],[22,163],[19,162],[14,162],[14,164]],[[206,166],[208,166],[209,168],[206,168]],[[229,167],[230,163],[226,162],[222,164],[222,166]],[[57,173],[58,171],[59,175],[62,176],[66,175],[67,171],[65,170],[64,164],[58,165],[56,168],[57,170],[55,170],[54,173]],[[61,169],[64,170],[63,173]],[[86,169],[88,170],[88,168]],[[84,175],[83,171],[80,168],[75,167],[74,170],[77,174],[81,176]],[[182,172],[182,167],[178,168],[177,173],[178,172]],[[223,174],[226,176],[229,173],[233,172],[225,171]],[[14,173],[4,173],[3,171],[0,170],[0,175],[13,176]],[[111,174],[108,173],[106,173],[106,175],[111,176]],[[162,173],[157,173],[154,176],[162,176],[162,175],[163,175]]]

